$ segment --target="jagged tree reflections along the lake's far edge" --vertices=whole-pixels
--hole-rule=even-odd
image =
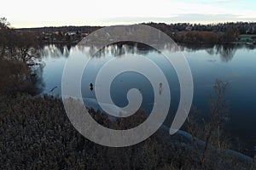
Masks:
[[[164,46],[163,46],[164,47]],[[65,44],[50,44],[39,47],[39,54],[42,57],[69,57],[72,48],[83,52],[84,55],[90,55],[92,57],[104,57],[107,54],[111,54],[113,57],[117,57],[124,54],[148,54],[157,49],[150,47],[140,42],[118,42],[109,44],[104,48],[97,48],[96,46],[86,47],[83,45],[65,45]],[[178,44],[162,50],[168,50],[170,52],[196,52],[198,50],[205,50],[207,54],[218,55],[224,62],[229,62],[236,54],[236,50],[239,48],[247,48],[248,50],[254,49],[254,46],[237,45],[237,44],[225,44],[225,45],[211,45],[211,44]]]

